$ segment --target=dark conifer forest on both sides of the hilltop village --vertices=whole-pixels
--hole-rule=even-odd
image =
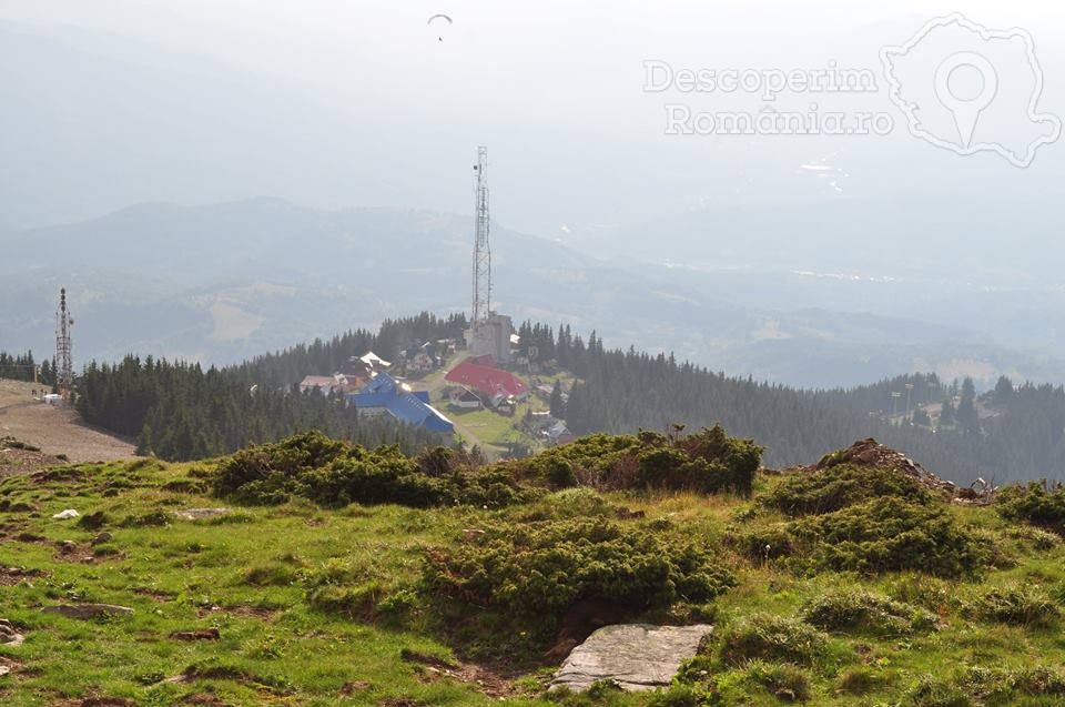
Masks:
[[[221,370],[150,358],[92,364],[80,386],[80,406],[89,422],[138,436],[143,450],[165,458],[220,454],[312,428],[364,443],[398,440],[413,448],[427,440],[390,423],[359,423],[338,401],[294,394],[292,386],[308,373],[338,370],[353,355],[373,350],[389,358],[420,342],[460,336],[465,325],[463,316],[423,313],[386,321],[376,334],[347,332]],[[565,418],[577,434],[721,423],[763,441],[771,466],[810,464],[830,450],[872,436],[960,484],[977,476],[1000,483],[1065,476],[1065,392],[1059,386],[1015,387],[1005,380],[980,401],[981,416],[970,382],[947,385],[934,375],[799,391],[730,377],[665,354],[606,350],[595,332],[585,341],[568,325],[555,330],[526,322],[519,334],[520,354],[536,346],[539,361],[554,360],[576,375]],[[892,398],[892,392],[900,397]],[[903,418],[907,393],[914,410],[945,401],[935,431],[921,424],[923,412]],[[893,412],[900,415],[893,417]]]

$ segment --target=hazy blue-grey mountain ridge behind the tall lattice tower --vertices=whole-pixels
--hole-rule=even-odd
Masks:
[[[469,221],[255,199],[146,203],[0,233],[0,349],[49,351],[60,286],[70,292],[79,361],[138,352],[231,363],[413,311],[465,311]],[[676,351],[714,370],[801,386],[913,371],[972,375],[988,385],[1002,372],[1065,380],[1061,361],[988,343],[975,330],[748,304],[748,293],[757,303],[771,279],[722,289],[712,274],[607,264],[555,241],[493,229],[499,311],[516,321],[598,330],[611,346]]]

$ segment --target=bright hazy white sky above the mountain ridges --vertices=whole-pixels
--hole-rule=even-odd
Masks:
[[[670,138],[663,134],[670,99],[642,90],[648,59],[692,69],[805,70],[830,61],[879,69],[882,46],[958,9],[987,27],[1028,29],[1045,73],[1041,108],[1065,114],[1065,55],[1055,49],[1065,39],[1065,8],[1056,2],[4,0],[0,19],[132,38],[154,52],[141,60],[186,62],[196,54],[255,74],[305,95],[308,105],[351,115],[353,130],[367,133],[352,140],[382,150],[366,165],[379,172],[377,192],[353,189],[349,200],[323,190],[276,195],[315,205],[375,205],[369,200],[467,211],[467,163],[476,144],[487,143],[497,218],[558,235],[731,199],[1057,184],[1065,147],[1045,149],[1026,171],[994,155],[962,160],[907,135],[883,89],[875,103],[851,97],[843,105],[894,115],[890,135],[861,141]],[[426,27],[436,12],[454,24],[440,32]],[[95,41],[106,53],[106,40]],[[694,110],[764,105],[757,95],[682,98]],[[790,105],[808,102],[799,97]],[[914,159],[923,160],[920,169]],[[407,179],[412,169],[396,171],[397,164],[424,164],[423,174]],[[448,174],[455,186],[442,186]],[[237,195],[255,194],[217,193]]]

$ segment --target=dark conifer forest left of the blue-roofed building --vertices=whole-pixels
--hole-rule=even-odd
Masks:
[[[90,363],[78,390],[85,422],[136,437],[138,448],[165,459],[216,456],[252,443],[320,430],[366,445],[397,443],[413,452],[449,443],[390,420],[359,418],[339,397],[300,393],[295,384],[312,372],[332,373],[352,355],[369,350],[394,356],[400,343],[460,333],[465,320],[428,314],[385,322],[377,334],[348,332],[261,356],[240,366],[143,361]]]

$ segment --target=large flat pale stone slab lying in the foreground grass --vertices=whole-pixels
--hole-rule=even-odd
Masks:
[[[604,626],[569,654],[549,688],[580,691],[613,680],[628,691],[669,685],[680,664],[696,655],[713,627],[617,624]]]

